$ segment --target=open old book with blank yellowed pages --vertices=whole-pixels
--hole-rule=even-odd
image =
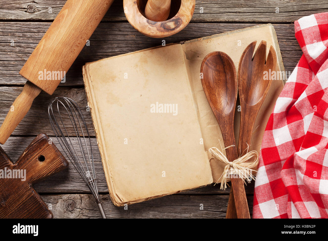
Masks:
[[[223,51],[238,71],[244,49],[261,40],[267,42],[267,53],[270,45],[275,48],[277,71],[284,71],[271,24],[140,50],[83,66],[92,121],[114,205],[194,189],[220,178],[224,165],[211,159],[207,150],[222,150],[223,141],[202,88],[200,65],[210,52]],[[256,118],[250,150],[260,150],[263,132],[282,88],[283,80],[273,80]],[[235,119],[238,138],[238,112]]]

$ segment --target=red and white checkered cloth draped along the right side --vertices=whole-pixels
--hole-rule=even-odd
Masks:
[[[328,218],[328,12],[295,36],[303,55],[264,132],[253,218]]]

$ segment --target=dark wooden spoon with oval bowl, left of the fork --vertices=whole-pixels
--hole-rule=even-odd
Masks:
[[[201,65],[202,85],[207,100],[219,123],[223,142],[226,147],[236,145],[234,135],[234,115],[236,108],[238,83],[234,62],[224,52],[208,54]],[[236,146],[226,149],[229,161],[238,158]],[[244,182],[241,178],[231,178],[235,193],[236,213],[238,218],[249,218]]]

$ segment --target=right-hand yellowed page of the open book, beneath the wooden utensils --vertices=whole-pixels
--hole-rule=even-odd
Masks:
[[[224,147],[221,131],[215,115],[207,101],[204,93],[201,79],[200,79],[200,66],[205,56],[213,51],[222,51],[228,54],[235,63],[236,71],[238,72],[238,64],[240,56],[245,48],[257,41],[256,48],[260,44],[261,40],[267,42],[267,54],[270,46],[272,45],[277,53],[277,71],[284,71],[282,58],[279,50],[278,40],[276,32],[271,24],[254,26],[246,29],[235,30],[216,34],[209,37],[200,39],[194,39],[185,42],[182,47],[185,51],[186,65],[189,74],[191,87],[194,93],[199,123],[204,138],[205,149],[208,150],[211,147],[217,147],[221,149],[221,145]],[[255,49],[256,51],[256,49]],[[259,110],[253,135],[250,143],[250,150],[260,151],[262,137],[264,130],[276,100],[283,88],[283,80],[273,80],[271,88]],[[237,104],[238,105],[238,104]],[[240,113],[236,111],[235,115],[235,137],[236,143],[238,143],[240,127]],[[220,140],[220,142],[219,142]],[[224,164],[218,163],[211,159],[211,168],[213,172],[213,179],[216,182],[224,168]],[[255,174],[255,173],[253,173]]]

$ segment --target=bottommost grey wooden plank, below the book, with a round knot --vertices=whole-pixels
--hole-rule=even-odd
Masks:
[[[54,218],[101,218],[94,197],[88,194],[41,195]],[[115,207],[102,195],[107,218],[225,218],[228,195],[171,195],[124,207]],[[252,216],[253,196],[248,196]],[[202,209],[201,209],[202,208]]]

